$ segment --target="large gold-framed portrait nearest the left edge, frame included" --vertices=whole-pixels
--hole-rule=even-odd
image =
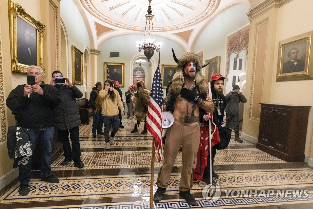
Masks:
[[[27,73],[30,65],[44,70],[43,38],[45,25],[24,11],[21,5],[8,2],[11,70]]]

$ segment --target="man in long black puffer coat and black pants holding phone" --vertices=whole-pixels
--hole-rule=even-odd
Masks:
[[[61,104],[54,112],[55,126],[59,130],[59,140],[63,144],[64,161],[62,165],[67,165],[74,160],[74,166],[83,168],[84,163],[80,160],[79,126],[81,126],[80,115],[76,99],[83,96],[83,93],[74,86],[68,78],[65,83],[55,83],[56,78],[63,78],[62,72],[56,70],[52,73],[50,85],[57,88],[61,96]],[[76,98],[76,99],[75,99]],[[69,144],[69,134],[72,148]]]

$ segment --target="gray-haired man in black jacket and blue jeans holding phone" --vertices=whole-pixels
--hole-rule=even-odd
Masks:
[[[54,111],[60,104],[60,94],[56,88],[45,84],[44,71],[41,67],[31,65],[27,74],[35,76],[35,84],[18,85],[13,89],[6,104],[17,121],[17,125],[28,129],[31,149],[34,152],[36,143],[41,142],[42,166],[41,180],[58,183],[59,179],[51,175],[52,142],[54,135]],[[29,93],[29,97],[28,97]],[[31,177],[32,156],[17,158],[20,195],[29,193],[28,183]]]

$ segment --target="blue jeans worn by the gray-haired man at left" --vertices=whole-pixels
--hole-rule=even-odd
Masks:
[[[41,142],[41,177],[47,177],[51,174],[51,157],[52,157],[52,140],[54,135],[54,126],[49,126],[43,131],[28,130],[30,141],[32,142],[31,149],[34,153],[38,140]],[[30,171],[32,168],[32,158],[26,164],[18,165],[19,180],[21,184],[28,184],[30,181]]]

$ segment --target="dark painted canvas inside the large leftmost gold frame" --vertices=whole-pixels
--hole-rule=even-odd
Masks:
[[[18,63],[37,65],[37,30],[17,17],[17,56]]]

